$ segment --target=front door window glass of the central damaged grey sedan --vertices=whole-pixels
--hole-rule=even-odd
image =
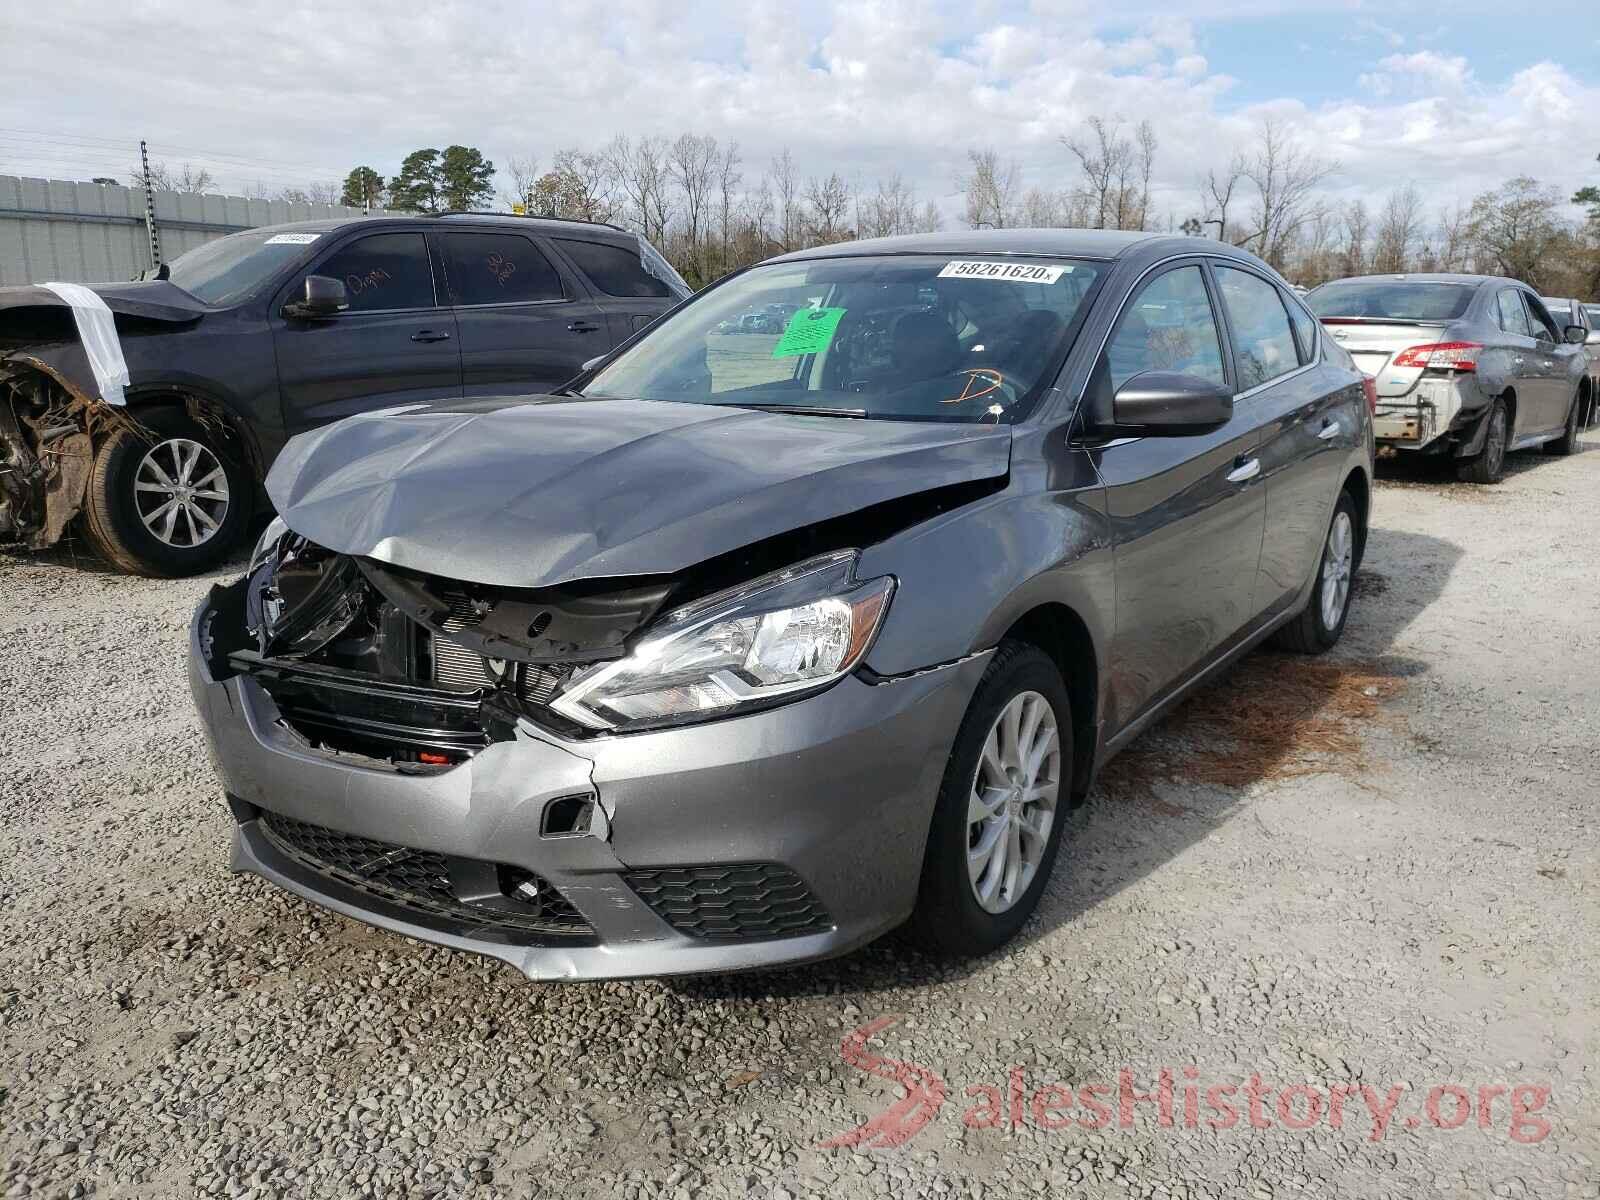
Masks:
[[[1222,339],[1200,267],[1157,275],[1123,309],[1106,347],[1117,390],[1141,371],[1178,371],[1226,386]]]

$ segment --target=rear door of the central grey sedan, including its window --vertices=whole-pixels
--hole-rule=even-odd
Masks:
[[[1299,301],[1248,267],[1213,261],[1211,270],[1240,376],[1234,403],[1261,430],[1267,515],[1251,606],[1277,614],[1317,570],[1366,398],[1317,370],[1318,326]]]

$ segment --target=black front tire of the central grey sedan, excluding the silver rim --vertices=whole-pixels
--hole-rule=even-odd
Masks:
[[[990,728],[1013,699],[1029,691],[1045,698],[1056,720],[1061,755],[1054,814],[1032,882],[1005,912],[990,912],[978,902],[968,875],[968,803]],[[1038,907],[1038,898],[1050,882],[1061,848],[1061,830],[1072,808],[1070,789],[1072,704],[1061,672],[1037,646],[1002,642],[950,747],[923,853],[917,909],[906,926],[907,938],[941,957],[987,954],[1014,938]]]

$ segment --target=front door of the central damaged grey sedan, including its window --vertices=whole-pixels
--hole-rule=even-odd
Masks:
[[[1123,307],[1098,370],[1112,390],[1142,371],[1232,384],[1198,259],[1165,267]],[[1237,390],[1237,386],[1234,386]],[[1110,686],[1138,718],[1250,624],[1266,488],[1250,405],[1213,434],[1118,438],[1091,450],[1117,558]]]

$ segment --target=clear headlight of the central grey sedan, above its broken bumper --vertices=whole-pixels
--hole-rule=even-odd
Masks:
[[[669,613],[632,654],[573,677],[555,712],[594,730],[725,717],[843,678],[894,592],[859,582],[856,550],[810,558]]]

